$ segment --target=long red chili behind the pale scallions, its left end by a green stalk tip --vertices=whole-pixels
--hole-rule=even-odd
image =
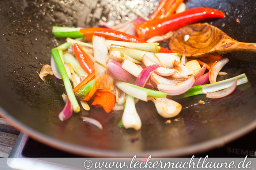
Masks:
[[[110,39],[119,40],[119,41],[127,41],[127,42],[135,42],[135,43],[147,43],[147,41],[139,39],[136,36],[129,35],[124,32],[116,31],[114,29],[109,28],[87,28],[80,29],[80,33],[83,33],[86,37],[87,41],[92,41],[92,35],[105,36]],[[161,47],[159,52],[172,53],[172,51]]]

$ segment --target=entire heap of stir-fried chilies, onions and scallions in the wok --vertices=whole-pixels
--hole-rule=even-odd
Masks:
[[[188,23],[225,16],[211,8],[185,10],[184,5],[181,7],[183,12],[178,13],[180,9],[176,9],[182,2],[161,0],[149,21],[144,23],[134,20],[110,26],[111,29],[106,28],[108,25],[102,24],[103,21],[101,25],[105,28],[53,27],[54,36],[67,37],[67,42],[52,50],[52,67],[45,65],[39,75],[44,80],[46,74],[53,72],[63,79],[67,96],[63,95],[66,104],[59,114],[60,120],[70,118],[72,110],[80,111],[77,97],[85,110],[90,109],[86,102],[89,100],[93,100],[91,105],[103,107],[107,113],[124,110],[118,126],[139,130],[142,122],[135,108],[139,99],[152,100],[159,115],[171,118],[180,113],[182,106],[167,95],[174,99],[197,94],[221,98],[233,92],[236,86],[248,82],[245,74],[216,82],[217,75],[227,74],[219,71],[229,59],[221,56],[189,59],[185,50],[181,58],[180,54],[160,47],[159,43],[145,41],[153,36],[163,40],[172,34],[166,32]],[[135,36],[135,29],[139,37]],[[158,40],[158,37],[151,40]],[[209,72],[205,73],[206,69]],[[206,84],[209,80],[211,84]],[[103,129],[97,120],[81,118]]]

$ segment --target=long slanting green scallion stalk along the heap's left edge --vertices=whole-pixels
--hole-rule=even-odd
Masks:
[[[57,49],[52,50],[52,56],[53,56],[53,59],[54,59],[56,65],[57,65],[57,67],[60,71],[61,77],[62,77],[64,85],[65,85],[65,89],[66,89],[66,92],[67,92],[67,95],[68,95],[68,99],[71,102],[73,110],[74,110],[74,112],[78,113],[78,112],[80,112],[80,106],[78,104],[78,101],[76,100],[75,94],[73,92],[73,88],[72,88],[71,83],[68,79],[68,74],[65,70],[64,64],[63,64],[63,62],[60,58],[60,54],[59,54]]]

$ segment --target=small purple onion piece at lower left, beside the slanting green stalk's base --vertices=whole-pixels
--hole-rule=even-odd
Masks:
[[[62,98],[66,104],[65,104],[63,110],[59,113],[59,119],[61,121],[69,119],[73,114],[73,108],[72,108],[70,100],[68,99],[68,96],[63,94]]]

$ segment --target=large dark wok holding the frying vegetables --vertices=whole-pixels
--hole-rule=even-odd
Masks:
[[[36,72],[41,70],[42,64],[50,63],[50,50],[63,41],[54,39],[51,28],[54,25],[97,26],[99,18],[105,16],[108,19],[113,2],[0,1],[2,116],[46,145],[94,157],[186,156],[221,147],[255,129],[256,58],[255,54],[246,52],[223,55],[230,62],[222,71],[229,75],[218,76],[218,80],[245,73],[249,83],[238,86],[231,95],[221,99],[197,95],[177,100],[184,109],[171,118],[169,124],[164,123],[168,119],[157,114],[153,102],[142,101],[136,104],[142,119],[140,131],[117,126],[122,111],[106,114],[102,108],[95,107],[61,122],[57,115],[64,107],[61,98],[65,92],[63,81],[49,75],[46,82],[42,82]],[[212,23],[238,41],[256,42],[255,0],[188,0],[185,3],[187,8],[211,7],[225,12],[223,19],[202,22]],[[150,8],[140,11],[148,15]],[[240,23],[236,22],[238,18]],[[165,47],[167,44],[161,43]],[[191,106],[199,100],[206,104]],[[80,119],[80,115],[88,113],[102,123],[103,131]]]

